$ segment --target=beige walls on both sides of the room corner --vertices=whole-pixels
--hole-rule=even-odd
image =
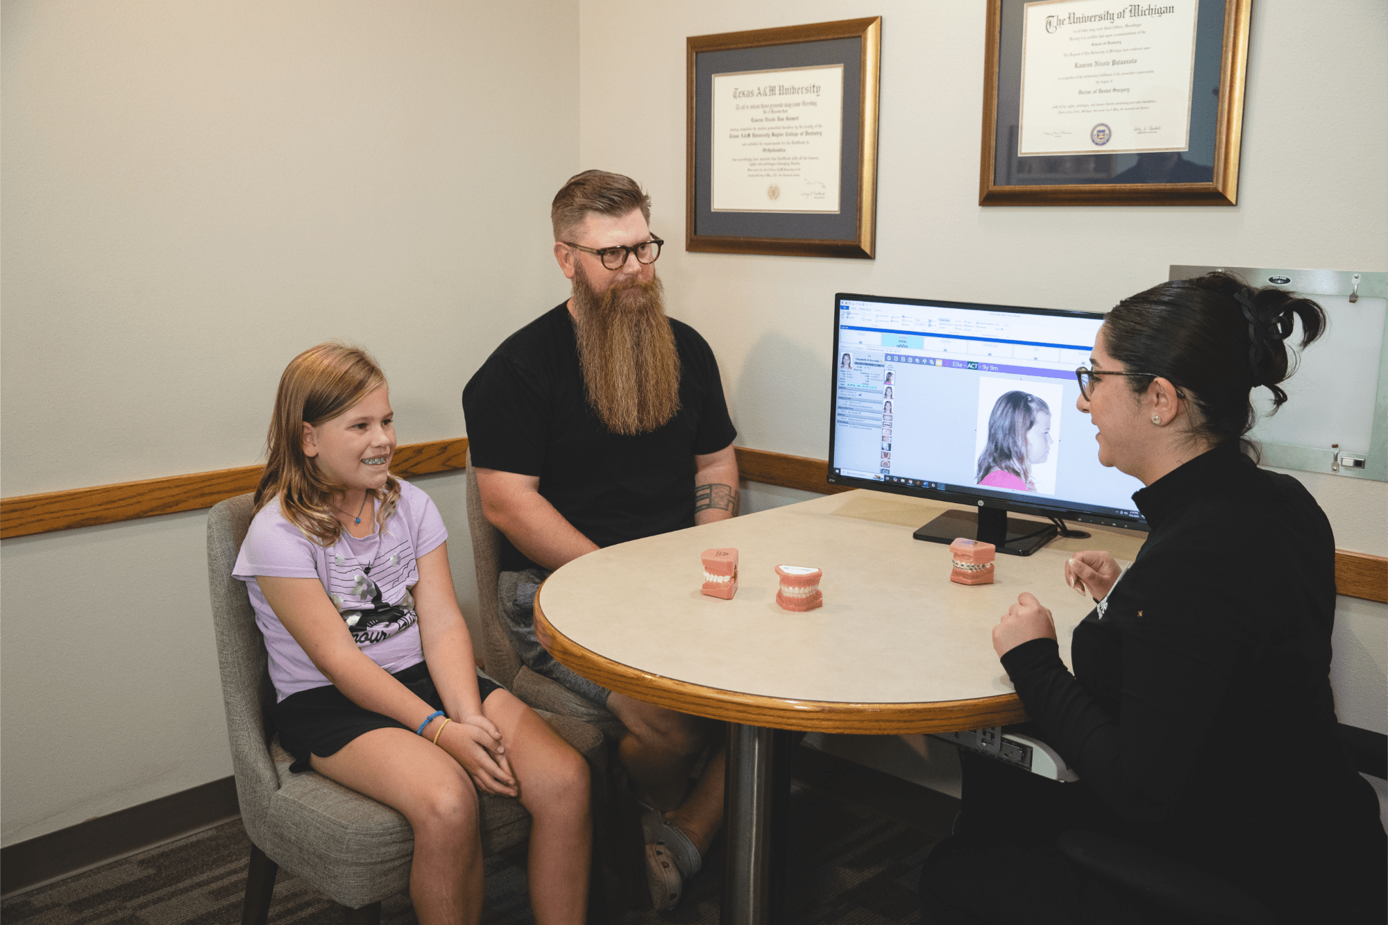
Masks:
[[[836,290],[1106,308],[1171,262],[1382,269],[1384,8],[1355,6],[1259,6],[1239,207],[980,210],[979,0],[7,0],[0,493],[253,462],[329,336],[378,353],[401,440],[457,436],[466,378],[562,297],[564,178],[637,176],[680,240],[688,35],[886,17],[879,258],[661,261],[748,446],[824,454]],[[1307,481],[1388,554],[1388,485]],[[421,483],[466,607],[461,476]],[[229,774],[203,524],[3,544],[0,842]],[[1345,718],[1388,732],[1388,607],[1341,622]]]

